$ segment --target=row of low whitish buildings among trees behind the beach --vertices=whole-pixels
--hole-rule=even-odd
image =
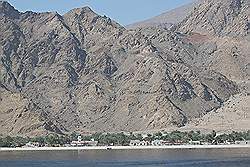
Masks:
[[[182,133],[180,133],[182,134]],[[195,133],[194,133],[195,134]],[[158,133],[154,136],[152,135],[133,135],[131,140],[129,140],[129,137],[126,135],[122,135],[124,138],[121,138],[121,136],[118,135],[118,140],[107,140],[103,141],[99,138],[99,141],[96,140],[96,136],[89,136],[86,140],[86,137],[82,137],[81,135],[78,135],[76,138],[77,140],[68,141],[66,143],[58,143],[58,144],[44,144],[42,142],[32,142],[29,141],[25,145],[23,145],[23,148],[36,148],[36,147],[97,147],[97,146],[130,146],[130,147],[140,147],[140,146],[183,146],[183,145],[250,145],[250,140],[246,140],[243,137],[238,136],[238,139],[240,140],[232,140],[232,139],[225,139],[222,140],[221,137],[223,135],[214,136],[210,140],[206,140],[206,138],[203,138],[201,140],[192,140],[192,137],[187,140],[181,140],[181,139],[175,139],[175,140],[164,140],[166,136],[164,137],[163,134]],[[215,134],[212,134],[215,135]],[[211,136],[212,136],[211,135]],[[113,135],[115,136],[115,135]],[[209,136],[209,135],[208,135]],[[210,136],[210,137],[211,137]],[[230,136],[230,135],[229,135]],[[93,138],[90,138],[93,137]],[[99,136],[100,137],[100,136]],[[107,136],[106,136],[107,137]],[[126,138],[127,137],[127,138]],[[108,137],[107,137],[108,138]],[[133,139],[135,138],[135,139]],[[120,141],[119,141],[120,140]]]

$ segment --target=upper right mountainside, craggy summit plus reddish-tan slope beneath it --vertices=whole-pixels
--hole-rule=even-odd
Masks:
[[[197,66],[249,79],[249,0],[205,0],[178,27],[200,54]]]

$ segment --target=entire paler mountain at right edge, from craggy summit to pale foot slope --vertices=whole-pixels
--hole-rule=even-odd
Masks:
[[[206,0],[177,26],[176,31],[186,34],[198,52],[206,52],[196,66],[219,71],[242,89],[220,109],[197,118],[184,129],[249,129],[249,6],[249,0]]]

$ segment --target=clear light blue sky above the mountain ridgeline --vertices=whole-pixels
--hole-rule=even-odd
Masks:
[[[7,0],[19,11],[57,11],[64,14],[72,8],[90,6],[100,15],[128,25],[161,14],[192,0]]]

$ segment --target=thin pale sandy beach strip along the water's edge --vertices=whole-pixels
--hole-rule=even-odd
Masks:
[[[85,150],[150,150],[150,149],[240,149],[250,145],[173,145],[173,146],[85,146],[85,147],[20,147],[0,148],[7,151],[85,151]]]

